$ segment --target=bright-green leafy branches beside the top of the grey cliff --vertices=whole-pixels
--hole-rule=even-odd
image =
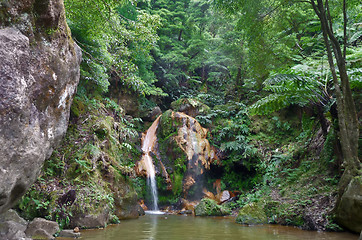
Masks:
[[[136,9],[131,1],[69,0],[65,7],[73,38],[83,51],[81,85],[107,92],[112,77],[140,94],[163,95],[150,71],[157,15]]]

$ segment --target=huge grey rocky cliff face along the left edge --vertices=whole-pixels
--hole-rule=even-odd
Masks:
[[[66,132],[80,59],[62,0],[0,2],[0,213]]]

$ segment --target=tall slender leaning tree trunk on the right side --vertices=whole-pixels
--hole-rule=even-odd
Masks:
[[[323,39],[326,45],[328,62],[332,72],[336,93],[339,126],[338,136],[342,147],[342,167],[344,168],[344,173],[341,177],[339,186],[340,199],[351,179],[354,176],[357,176],[361,169],[361,162],[358,158],[358,118],[347,75],[345,57],[341,51],[341,46],[333,33],[328,0],[325,1],[325,4],[323,3],[323,0],[317,0],[317,3],[315,3],[315,0],[311,0],[311,4],[321,23]],[[344,11],[345,10],[346,9],[344,8]],[[338,75],[335,69],[334,59],[336,60],[339,70]]]

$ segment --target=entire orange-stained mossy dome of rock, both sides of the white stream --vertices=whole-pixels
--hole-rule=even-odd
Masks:
[[[148,136],[151,129],[155,130],[156,137],[146,141],[145,136]],[[193,117],[181,112],[166,111],[154,121],[147,135],[143,134],[143,142],[148,143],[150,151],[149,154],[145,152],[136,163],[137,175],[147,176],[145,160],[151,156],[156,174],[162,175],[164,180],[165,185],[160,187],[165,189],[163,196],[168,195],[167,199],[180,195],[190,200],[201,199],[203,186],[198,183],[202,182],[204,172],[210,169],[212,163],[220,163],[207,135],[208,130]]]

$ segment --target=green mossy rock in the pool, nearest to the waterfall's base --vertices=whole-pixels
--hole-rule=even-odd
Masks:
[[[195,207],[196,216],[225,216],[230,215],[230,209],[218,205],[215,200],[203,198]]]

